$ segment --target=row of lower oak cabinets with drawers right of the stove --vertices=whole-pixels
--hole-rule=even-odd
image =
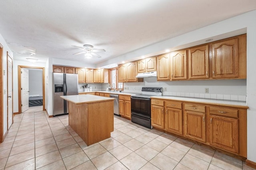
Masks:
[[[247,106],[151,99],[151,125],[247,157]]]

